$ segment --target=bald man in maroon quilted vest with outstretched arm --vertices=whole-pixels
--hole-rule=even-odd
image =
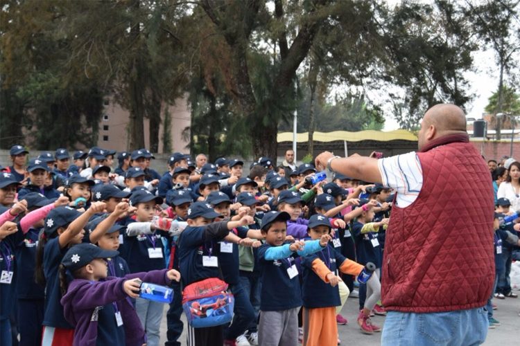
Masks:
[[[493,188],[453,104],[426,111],[419,151],[389,158],[324,152],[316,167],[397,190],[383,255],[383,345],[478,345],[494,275]]]

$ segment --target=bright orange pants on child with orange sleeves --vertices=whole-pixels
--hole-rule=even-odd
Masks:
[[[303,308],[304,346],[338,345],[336,307]]]

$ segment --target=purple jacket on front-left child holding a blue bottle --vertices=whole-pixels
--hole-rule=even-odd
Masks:
[[[61,299],[65,319],[74,326],[74,346],[96,345],[98,321],[92,318],[98,307],[116,302],[123,326],[125,328],[126,345],[141,346],[146,343],[143,326],[130,303],[128,295],[123,291],[123,282],[139,277],[143,282],[168,285],[166,269],[148,273],[133,273],[125,277],[109,276],[103,281],[92,282],[75,279],[69,284],[67,293]]]

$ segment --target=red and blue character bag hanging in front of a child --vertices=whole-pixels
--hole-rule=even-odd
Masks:
[[[182,309],[193,328],[224,325],[233,318],[234,297],[217,277],[189,284],[182,291]]]

